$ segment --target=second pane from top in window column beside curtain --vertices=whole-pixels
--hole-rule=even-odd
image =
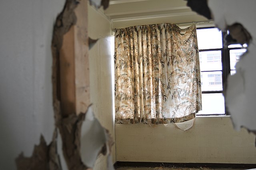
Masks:
[[[199,52],[199,56],[201,71],[222,70],[221,51]]]

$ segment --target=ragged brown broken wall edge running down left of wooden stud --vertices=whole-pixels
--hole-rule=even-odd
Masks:
[[[62,138],[62,150],[69,170],[86,170],[87,167],[82,163],[80,156],[80,130],[84,114],[62,114],[60,108],[60,49],[62,40],[70,28],[76,24],[75,8],[78,6],[77,0],[66,0],[63,11],[58,15],[52,38],[52,83],[55,126],[60,131]]]

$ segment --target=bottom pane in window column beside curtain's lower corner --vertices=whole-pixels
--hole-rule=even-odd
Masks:
[[[202,110],[197,114],[225,114],[222,93],[202,94]]]

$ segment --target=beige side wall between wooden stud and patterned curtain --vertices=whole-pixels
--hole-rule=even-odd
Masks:
[[[96,118],[104,128],[110,131],[115,140],[113,88],[111,84],[112,69],[114,69],[114,39],[111,36],[111,22],[102,12],[88,6],[88,27],[90,38],[99,38],[98,42],[89,51],[90,100],[92,102],[92,109]],[[115,155],[115,146],[113,146],[113,162],[116,162]],[[96,160],[94,170],[106,170],[106,166],[106,156],[100,155]]]

